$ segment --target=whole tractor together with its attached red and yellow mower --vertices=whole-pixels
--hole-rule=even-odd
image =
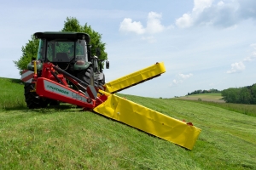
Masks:
[[[115,94],[159,77],[166,72],[163,62],[105,83],[103,60],[91,55],[87,34],[37,32],[34,36],[40,39],[40,43],[38,59],[32,59],[28,64],[28,70],[32,71],[32,81],[25,83],[26,105],[29,108],[59,105],[60,102],[77,105],[84,111],[107,116],[193,149],[201,129],[192,122],[177,120]],[[108,61],[106,67],[109,67]],[[25,81],[22,76],[21,80]]]

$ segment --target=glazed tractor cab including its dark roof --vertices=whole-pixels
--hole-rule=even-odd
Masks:
[[[38,61],[51,62],[61,69],[84,70],[90,65],[90,37],[77,32],[37,32]],[[89,62],[89,63],[88,63]]]

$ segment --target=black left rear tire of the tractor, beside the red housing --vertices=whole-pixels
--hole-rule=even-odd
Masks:
[[[46,107],[49,104],[49,99],[42,99],[36,92],[31,92],[31,90],[34,89],[35,88],[33,83],[25,83],[24,96],[26,100],[26,106],[29,109]]]

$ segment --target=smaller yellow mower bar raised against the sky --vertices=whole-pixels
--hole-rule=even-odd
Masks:
[[[156,63],[155,65],[148,66],[143,70],[133,72],[125,77],[120,77],[112,82],[106,83],[104,85],[106,87],[105,91],[113,94],[125,88],[130,88],[133,85],[137,85],[138,83],[158,77],[164,72],[166,72],[164,63]]]

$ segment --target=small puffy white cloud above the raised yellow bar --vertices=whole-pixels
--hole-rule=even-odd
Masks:
[[[119,26],[119,31],[123,32],[135,32],[137,34],[155,34],[166,29],[172,28],[172,26],[161,25],[160,20],[162,19],[162,14],[157,14],[154,12],[148,13],[147,26],[144,27],[141,22],[132,21],[130,18],[125,18]]]

